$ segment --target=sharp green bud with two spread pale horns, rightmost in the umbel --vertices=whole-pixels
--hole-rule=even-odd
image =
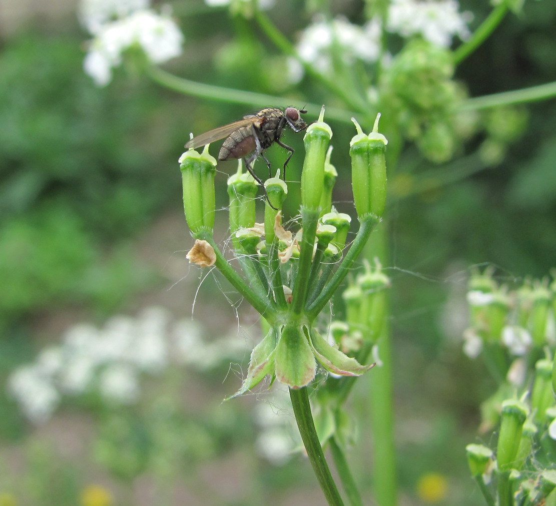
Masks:
[[[380,114],[376,116],[373,131],[365,135],[354,122],[358,134],[351,139],[351,186],[355,209],[360,218],[372,214],[382,216],[386,204],[386,144],[388,141],[378,133]]]

